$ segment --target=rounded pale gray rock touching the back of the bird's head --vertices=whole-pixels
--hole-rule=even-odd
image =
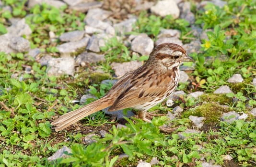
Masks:
[[[131,42],[131,50],[141,55],[149,55],[154,48],[154,42],[146,34],[140,34]]]

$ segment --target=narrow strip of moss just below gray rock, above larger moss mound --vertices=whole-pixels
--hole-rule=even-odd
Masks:
[[[200,96],[200,100],[204,102],[215,102],[219,104],[232,104],[233,100],[227,97],[225,94],[203,94]]]

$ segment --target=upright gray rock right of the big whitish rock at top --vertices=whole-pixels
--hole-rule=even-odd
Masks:
[[[190,24],[195,22],[195,15],[190,10],[190,2],[180,3],[179,7],[181,8],[180,18],[185,19]]]

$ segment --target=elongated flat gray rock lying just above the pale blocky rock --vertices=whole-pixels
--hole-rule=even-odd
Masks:
[[[70,53],[76,52],[77,49],[81,47],[87,46],[87,43],[89,42],[88,37],[84,37],[80,41],[77,42],[66,42],[61,45],[57,46],[58,51],[61,53],[62,57],[70,56]]]

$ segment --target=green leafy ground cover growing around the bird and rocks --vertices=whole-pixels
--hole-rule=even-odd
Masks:
[[[26,22],[32,34],[23,38],[30,41],[32,48],[40,48],[43,54],[59,56],[56,45],[61,42],[49,40],[49,31],[58,37],[63,32],[84,29],[85,14],[67,10],[65,6],[57,9],[42,4],[27,9],[25,0],[2,2],[10,5],[12,11],[0,13],[0,34],[7,32],[9,19],[29,15]],[[47,67],[40,66],[24,53],[0,52],[0,167],[125,167],[136,166],[140,159],[150,162],[152,157],[158,158],[158,166],[200,166],[203,162],[201,157],[207,162],[224,166],[229,163],[223,159],[225,155],[231,155],[232,163],[236,165],[255,166],[255,117],[249,115],[246,121],[233,123],[220,121],[224,112],[234,110],[248,114],[251,108],[256,107],[256,88],[252,85],[256,76],[255,6],[253,0],[229,0],[223,8],[207,5],[202,11],[196,10],[195,4],[192,4],[196,26],[212,31],[207,32],[209,40],[202,41],[201,52],[191,54],[195,60],[195,71],[189,74],[191,82],[179,84],[178,90],[184,90],[186,94],[204,91],[205,94],[198,99],[184,95],[175,101],[174,106],[180,105],[184,111],[172,121],[154,117],[150,124],[126,119],[127,128],[116,129],[112,118],[98,112],[77,125],[54,132],[50,122],[57,115],[80,107],[79,104],[72,104],[72,100],[79,99],[88,89],[98,99],[111,88],[112,85],[100,84],[102,80],[113,79],[114,71],[110,63],[147,60],[147,55],[133,55],[130,47],[117,36],[106,41],[106,46],[101,48],[101,52],[105,53],[105,62],[79,67],[74,77],[47,76]],[[165,28],[180,30],[183,43],[195,38],[191,25],[185,20],[174,20],[170,16],[161,18],[147,12],[141,12],[138,17],[131,34],[147,33],[157,40],[157,35]],[[206,59],[209,56],[213,58],[210,61]],[[31,67],[30,73],[24,72],[25,66]],[[104,73],[95,73],[92,69],[102,69]],[[244,82],[228,84],[228,78],[234,73],[240,73]],[[213,94],[224,84],[229,85],[234,93]],[[93,100],[88,99],[86,104]],[[162,103],[150,111],[166,114],[172,109]],[[185,134],[186,139],[180,139],[177,133],[193,128],[189,115],[206,117],[204,131]],[[158,127],[163,124],[170,124],[175,131],[172,134],[162,133]],[[109,130],[105,138],[99,135],[102,129]],[[83,137],[89,133],[96,135],[97,142],[84,145]],[[49,162],[47,157],[62,146],[71,148],[70,156]],[[122,153],[129,157],[118,159]]]

